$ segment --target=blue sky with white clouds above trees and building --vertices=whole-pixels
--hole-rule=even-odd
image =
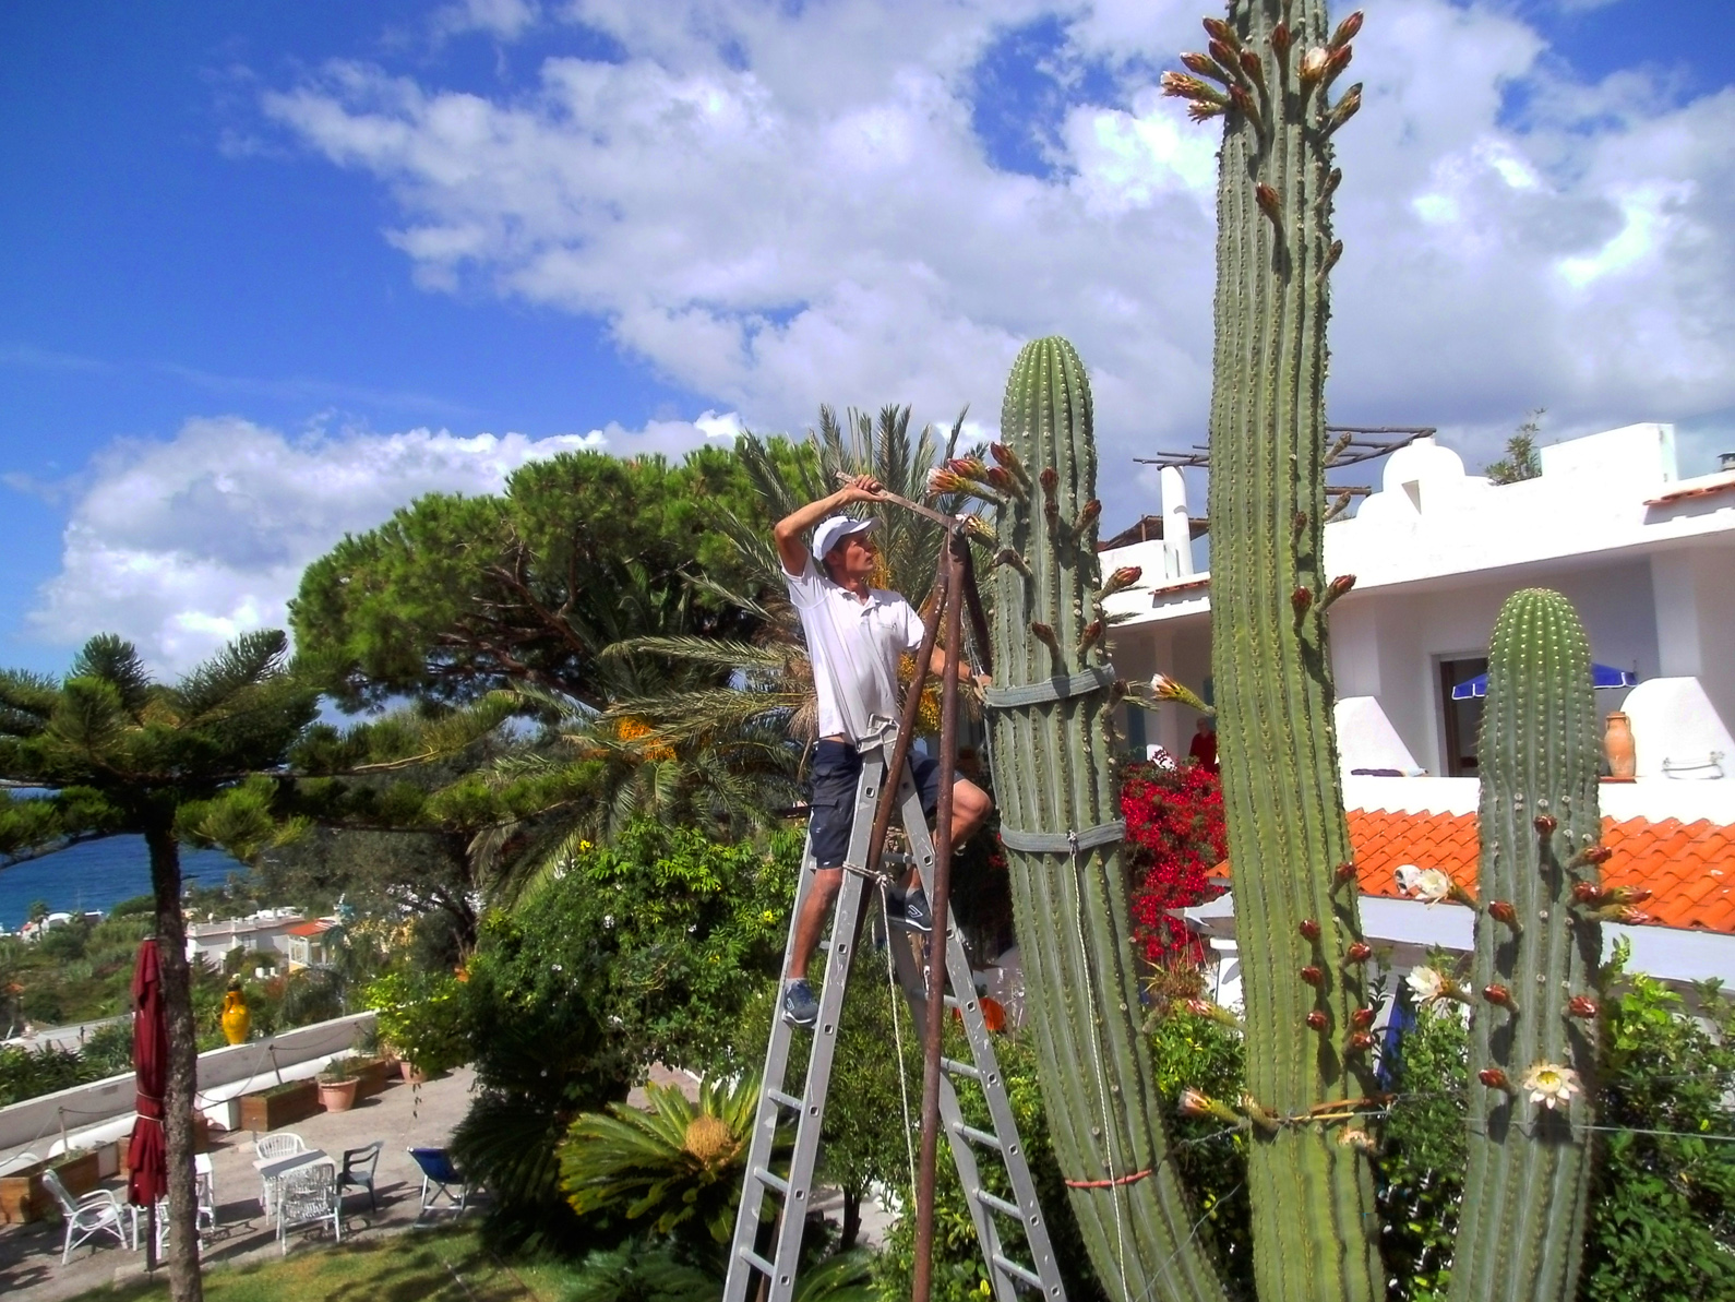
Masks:
[[[1194,9],[0,9],[0,660],[116,627],[186,663],[344,529],[583,439],[991,425],[1048,330],[1129,517],[1209,385],[1213,141],[1152,90]],[[1735,7],[1367,9],[1334,415],[1471,460],[1532,406],[1666,418],[1704,462]]]

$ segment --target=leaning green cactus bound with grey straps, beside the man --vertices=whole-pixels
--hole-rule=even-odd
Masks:
[[[1018,849],[1029,844],[1018,832],[1088,833],[1119,818],[1107,675],[1029,700],[1103,665],[1090,385],[1064,339],[1018,354],[1001,437],[989,722],[1055,1154],[1110,1297],[1221,1299],[1194,1236],[1197,1213],[1166,1161],[1119,844]]]

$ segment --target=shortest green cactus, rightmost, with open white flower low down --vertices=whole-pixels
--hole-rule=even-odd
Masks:
[[[1489,649],[1470,1170],[1452,1262],[1461,1302],[1574,1297],[1589,1194],[1600,915],[1591,648],[1558,592],[1515,592]],[[1539,1073],[1542,1073],[1539,1080]],[[1551,1085],[1572,1090],[1570,1101]],[[1541,1102],[1535,1099],[1541,1097]]]

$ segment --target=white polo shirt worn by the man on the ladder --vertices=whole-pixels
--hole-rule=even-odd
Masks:
[[[802,620],[819,696],[819,736],[862,741],[869,719],[897,719],[897,661],[921,646],[921,618],[895,592],[868,589],[868,601],[826,578],[814,559],[786,573]]]

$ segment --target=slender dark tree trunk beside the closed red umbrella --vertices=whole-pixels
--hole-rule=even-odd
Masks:
[[[163,972],[163,1012],[168,1017],[168,1073],[163,1088],[163,1147],[168,1160],[168,1295],[174,1302],[205,1302],[200,1279],[198,1205],[193,1191],[193,1094],[198,1043],[193,1029],[193,977],[187,969],[187,929],[180,915],[180,844],[167,819],[144,832],[156,894],[156,946]]]

